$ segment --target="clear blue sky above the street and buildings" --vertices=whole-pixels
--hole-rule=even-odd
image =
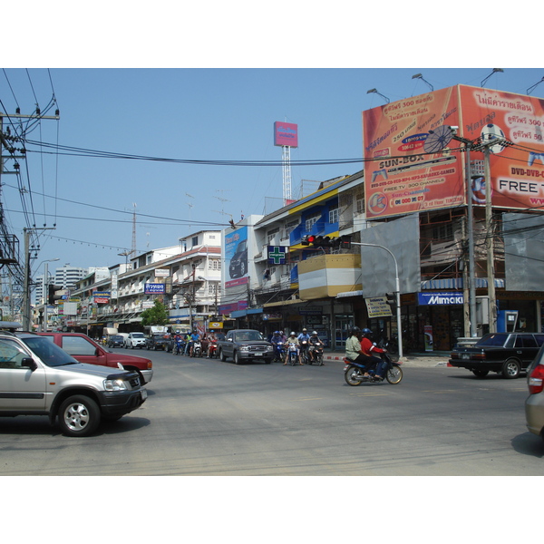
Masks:
[[[457,83],[480,86],[491,68],[473,69],[38,69],[0,73],[2,110],[30,113],[56,97],[60,121],[42,121],[30,140],[85,150],[183,160],[281,160],[274,121],[298,125],[291,160],[360,159],[361,112]],[[504,68],[486,87],[525,93],[541,69]],[[31,84],[32,83],[32,84]],[[532,95],[542,96],[544,83]],[[54,108],[53,108],[54,110]],[[51,112],[53,114],[53,111]],[[48,154],[29,146],[31,224],[44,231],[36,262],[112,266],[131,248],[136,205],[139,250],[175,245],[200,228],[222,228],[230,214],[267,213],[282,196],[277,166],[210,166]],[[47,151],[41,153],[39,151]],[[293,195],[315,181],[361,170],[362,164],[292,166]],[[304,181],[303,181],[304,180]],[[12,231],[25,226],[15,176],[3,177]],[[29,189],[26,187],[26,189]],[[56,196],[56,198],[55,198]],[[222,212],[222,213],[221,213]],[[45,214],[45,215],[44,215]]]

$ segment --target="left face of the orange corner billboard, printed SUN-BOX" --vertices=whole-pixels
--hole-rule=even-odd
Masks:
[[[368,219],[464,204],[463,158],[448,147],[459,113],[457,87],[363,112]]]

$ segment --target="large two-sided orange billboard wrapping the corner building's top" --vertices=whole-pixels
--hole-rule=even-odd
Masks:
[[[463,144],[452,139],[452,126],[471,141],[493,134],[513,142],[491,146],[493,206],[544,205],[544,101],[457,85],[363,112],[368,219],[466,203]],[[483,160],[481,151],[471,160]],[[471,195],[485,204],[482,179],[472,182]]]

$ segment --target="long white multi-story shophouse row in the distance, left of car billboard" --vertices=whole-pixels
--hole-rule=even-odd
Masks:
[[[180,245],[132,257],[107,273],[83,278],[72,293],[77,314],[64,326],[100,337],[104,327],[142,330],[141,312],[159,299],[173,327],[205,324],[217,314],[220,285],[220,231],[180,238]],[[220,325],[220,324],[219,324]]]

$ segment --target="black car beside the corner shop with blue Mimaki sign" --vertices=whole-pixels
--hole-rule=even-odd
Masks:
[[[479,378],[490,372],[501,373],[509,379],[518,378],[543,344],[544,334],[490,333],[475,345],[455,347],[449,363],[466,368]]]

